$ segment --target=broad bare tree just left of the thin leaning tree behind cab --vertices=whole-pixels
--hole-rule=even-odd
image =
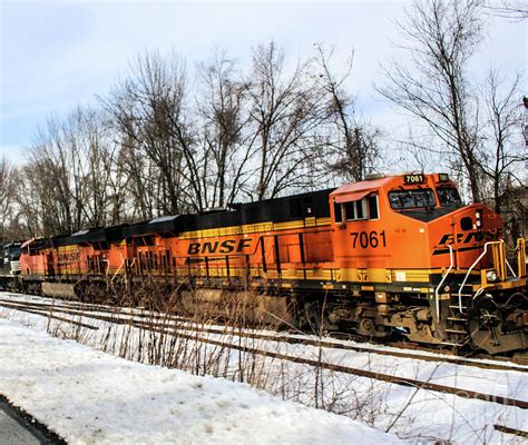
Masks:
[[[306,71],[305,62],[289,73],[285,55],[274,42],[254,49],[245,144],[256,159],[256,182],[248,192],[257,200],[314,182],[310,159],[321,148],[315,130],[327,107],[321,88]]]

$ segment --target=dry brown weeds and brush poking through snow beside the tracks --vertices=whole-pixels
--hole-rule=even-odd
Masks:
[[[188,286],[170,289],[149,283],[138,288],[134,296],[123,290],[115,293],[115,306],[110,314],[115,323],[97,322],[98,330],[57,320],[52,318],[52,308],[47,325],[48,332],[53,336],[75,339],[126,359],[246,383],[283,399],[346,415],[408,438],[449,443],[421,435],[413,429],[414,419],[409,408],[417,392],[410,393],[410,398],[403,406],[390,406],[387,388],[382,389],[383,385],[379,382],[354,378],[323,369],[322,366],[289,363],[253,354],[252,349],[270,350],[270,343],[239,334],[273,330],[291,323],[276,314],[258,315],[258,304],[255,303],[257,297],[248,293],[204,293]],[[324,305],[321,310],[324,310]],[[129,316],[131,313],[134,318]],[[77,317],[76,320],[96,323],[89,316],[84,319]],[[137,325],[135,322],[143,324]],[[204,330],[212,326],[223,329],[223,333]],[[322,340],[324,325],[314,327],[312,334]],[[231,348],[227,346],[229,344],[237,348]],[[285,353],[284,344],[277,343],[273,347],[276,353]],[[320,343],[309,358],[322,364],[323,349]],[[486,437],[482,443],[488,441]]]

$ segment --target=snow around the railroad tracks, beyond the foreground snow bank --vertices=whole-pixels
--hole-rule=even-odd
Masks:
[[[0,293],[0,298],[13,297]],[[27,299],[38,300],[37,297],[27,297]],[[2,316],[29,326],[33,330],[48,330],[66,338],[77,338],[94,348],[111,352],[133,360],[164,363],[183,367],[195,374],[213,373],[225,375],[231,379],[248,380],[283,398],[311,406],[324,406],[381,431],[390,429],[391,433],[394,432],[411,443],[417,441],[420,443],[449,441],[460,444],[516,441],[521,443],[522,439],[519,437],[495,431],[493,425],[524,431],[528,425],[528,414],[521,408],[503,406],[492,400],[468,399],[457,395],[314,369],[307,365],[258,357],[247,353],[231,353],[226,348],[199,342],[198,335],[195,340],[189,342],[170,335],[160,336],[128,325],[110,325],[107,322],[87,317],[84,317],[82,322],[97,326],[98,330],[79,329],[75,325],[60,320],[47,320],[46,317],[0,308],[0,317]],[[68,315],[61,315],[61,317],[79,319]],[[236,336],[201,335],[206,336],[207,339],[234,342],[238,346],[242,342]],[[317,349],[306,345],[277,345],[262,339],[244,339],[243,342],[250,348],[274,350],[311,359],[322,358],[329,363],[451,385],[461,388],[462,392],[476,390],[524,400],[528,398],[526,367],[524,372],[497,372],[354,350]],[[167,358],[167,355],[170,357]],[[165,372],[172,373],[172,370]],[[0,392],[2,392],[1,377],[0,365]],[[216,380],[212,379],[212,382]],[[219,382],[227,383],[224,379]],[[313,437],[317,441],[319,437],[324,436]],[[222,442],[231,443],[229,437],[226,436],[226,438]],[[299,438],[302,438],[299,443],[306,442],[304,436],[299,436]],[[272,438],[270,441],[275,442]],[[270,442],[265,441],[265,443]],[[341,442],[339,439],[332,442],[325,437],[322,443]],[[350,442],[346,438],[344,443]]]

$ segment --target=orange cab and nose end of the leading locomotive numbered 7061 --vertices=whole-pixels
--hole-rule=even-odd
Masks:
[[[330,207],[338,279],[354,301],[331,319],[369,336],[399,329],[415,342],[489,353],[526,348],[525,240],[508,263],[500,216],[465,206],[447,175],[346,185]]]

